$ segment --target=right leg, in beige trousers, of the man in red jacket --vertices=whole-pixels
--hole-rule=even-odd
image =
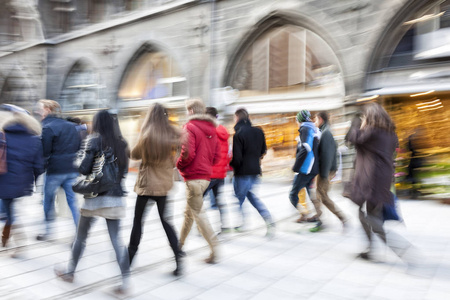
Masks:
[[[209,182],[207,180],[189,180],[186,181],[186,185],[188,186],[187,204],[191,208],[192,215],[197,223],[200,233],[208,242],[211,249],[211,255],[208,260],[209,262],[213,262],[215,259],[215,248],[218,241],[211,225],[209,224],[208,218],[202,210],[202,195],[208,187]]]

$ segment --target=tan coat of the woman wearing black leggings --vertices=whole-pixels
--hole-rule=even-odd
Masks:
[[[142,159],[142,145],[138,143],[131,151],[131,159]],[[173,186],[174,157],[159,164],[141,163],[134,191],[139,196],[166,196]]]

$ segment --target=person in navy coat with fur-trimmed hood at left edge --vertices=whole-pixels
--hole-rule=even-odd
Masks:
[[[41,131],[39,122],[26,110],[14,105],[0,106],[0,134],[6,142],[6,172],[0,174],[1,212],[5,215],[2,247],[7,247],[11,232],[17,229],[15,200],[32,195],[38,176],[44,172]],[[17,245],[18,239],[15,242]]]

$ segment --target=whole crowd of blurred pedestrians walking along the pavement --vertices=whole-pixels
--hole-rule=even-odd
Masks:
[[[87,127],[80,122],[62,118],[61,108],[56,101],[40,100],[37,113],[42,125],[26,110],[12,105],[0,107],[0,137],[3,145],[0,151],[6,152],[6,156],[0,152],[0,158],[6,157],[5,167],[0,168],[1,212],[5,221],[2,246],[8,244],[14,232],[14,199],[32,194],[36,179],[45,172],[43,208],[46,230],[37,239],[45,241],[52,236],[55,193],[60,187],[65,191],[76,226],[68,265],[55,267],[55,274],[62,280],[74,280],[91,225],[96,217],[100,217],[106,221],[122,274],[123,282],[116,292],[126,293],[130,266],[143,238],[142,227],[149,201],[157,204],[163,229],[174,254],[175,276],[183,273],[182,261],[186,255],[183,248],[194,222],[210,248],[205,262],[217,263],[219,240],[208,221],[203,204],[204,197],[210,195],[211,207],[218,208],[220,212],[221,232],[231,230],[225,226],[224,201],[220,195],[230,168],[234,172],[234,193],[242,215],[241,223],[234,230],[239,232],[246,228],[242,205],[248,199],[265,221],[266,235],[273,237],[275,234],[272,215],[253,192],[261,175],[261,160],[267,151],[266,139],[261,128],[252,126],[245,108],[238,109],[234,114],[231,151],[230,135],[224,126],[218,125],[217,110],[206,108],[200,99],[186,101],[188,120],[182,129],[171,124],[164,106],[153,104],[131,151],[121,134],[117,115],[108,110],[95,114],[89,135]],[[337,147],[330,129],[329,115],[322,111],[312,117],[309,111],[301,110],[296,120],[299,138],[292,168],[295,176],[286,198],[288,196],[295,209],[299,210],[297,222],[313,222],[315,226],[310,231],[320,231],[324,226],[321,219],[324,205],[346,229],[347,217],[328,196],[330,181],[337,170]],[[362,111],[360,122],[352,122],[347,140],[357,151],[350,198],[359,207],[360,221],[368,239],[367,249],[359,257],[366,260],[372,258],[372,233],[375,233],[404,258],[412,245],[402,237],[396,237],[397,243],[394,245],[390,242],[390,235],[383,229],[383,211],[394,205],[391,185],[393,157],[398,143],[395,126],[379,104],[371,103]],[[113,159],[108,160],[108,157]],[[134,188],[137,198],[133,227],[126,247],[120,238],[120,219],[125,217],[122,183],[128,171],[129,158],[140,161],[140,164]],[[86,181],[90,178],[86,184],[101,185],[102,179],[97,179],[107,177],[108,174],[101,174],[101,171],[109,163],[115,166],[117,172],[113,184],[106,191],[84,194],[84,201],[79,206],[73,190],[73,186],[79,184],[79,175],[86,176],[83,179]],[[186,186],[184,221],[179,238],[165,214],[168,193],[173,186],[174,167]],[[98,174],[101,174],[100,177]],[[311,193],[314,185],[317,186],[317,193]],[[311,217],[299,205],[298,194],[303,188],[306,188],[314,204],[315,214]]]

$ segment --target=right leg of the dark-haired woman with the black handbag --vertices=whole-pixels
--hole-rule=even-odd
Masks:
[[[130,276],[130,262],[128,259],[128,251],[119,237],[120,230],[120,220],[106,219],[106,225],[108,226],[109,238],[116,252],[117,263],[120,267],[120,272],[122,273],[123,285],[126,285],[128,278]]]

